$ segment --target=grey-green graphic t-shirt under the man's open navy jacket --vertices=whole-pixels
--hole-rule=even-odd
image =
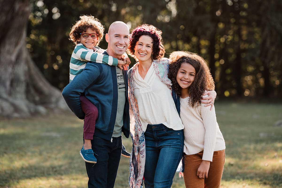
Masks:
[[[119,137],[120,135],[122,135],[125,92],[126,92],[123,71],[118,67],[116,67],[116,75],[118,79],[118,112],[116,114],[116,124],[114,125],[113,137]]]

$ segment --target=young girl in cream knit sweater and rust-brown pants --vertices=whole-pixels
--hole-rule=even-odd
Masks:
[[[191,52],[173,52],[169,58],[168,78],[180,96],[184,125],[185,187],[220,187],[225,142],[214,107],[210,109],[201,103],[204,92],[214,89],[209,68],[202,57]]]

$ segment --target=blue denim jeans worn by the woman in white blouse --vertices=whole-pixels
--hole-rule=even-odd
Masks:
[[[144,135],[146,143],[145,187],[170,188],[183,154],[183,130],[175,131],[163,124],[148,124]]]

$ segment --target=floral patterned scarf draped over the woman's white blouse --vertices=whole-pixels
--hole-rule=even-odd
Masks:
[[[171,89],[171,80],[168,79],[168,65],[170,60],[167,58],[162,58],[153,61],[153,66],[156,70],[157,76],[160,80],[166,83]],[[139,110],[138,104],[134,97],[133,91],[133,74],[135,73],[137,62],[128,71],[128,96],[129,96],[129,114],[130,114],[130,135],[133,143],[133,148],[130,156],[129,162],[129,187],[130,188],[140,188],[143,182],[144,168],[145,168],[145,158],[146,158],[146,147],[145,147],[145,136],[142,130],[142,125],[139,120]]]

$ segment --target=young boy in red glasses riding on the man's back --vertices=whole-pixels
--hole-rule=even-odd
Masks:
[[[121,61],[102,54],[105,50],[99,48],[98,45],[103,39],[104,30],[103,25],[98,19],[94,18],[94,16],[80,16],[80,20],[72,26],[69,36],[70,40],[76,44],[76,47],[70,59],[70,82],[76,75],[83,71],[88,61],[114,65],[127,70],[126,64],[130,63],[129,58],[125,58],[124,61]],[[127,57],[126,54],[124,56]],[[98,109],[85,98],[84,94],[80,97],[80,102],[81,108],[85,113],[85,117],[80,117],[80,119],[84,119],[84,145],[80,150],[80,155],[84,161],[96,163],[95,153],[91,149],[91,140],[93,139],[95,130],[95,121],[98,117]],[[130,157],[130,154],[126,152],[124,146],[122,156]]]

